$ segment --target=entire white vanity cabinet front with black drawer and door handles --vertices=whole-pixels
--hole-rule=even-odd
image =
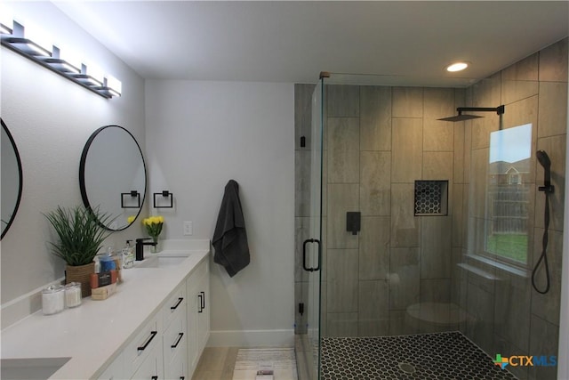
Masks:
[[[137,328],[98,379],[189,380],[209,334],[210,271],[205,256]]]

